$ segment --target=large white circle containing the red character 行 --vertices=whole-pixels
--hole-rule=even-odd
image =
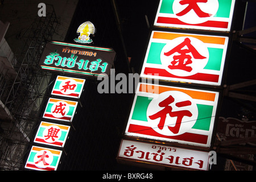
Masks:
[[[198,110],[193,99],[183,92],[171,90],[159,94],[147,108],[147,121],[157,133],[175,136],[195,125]]]

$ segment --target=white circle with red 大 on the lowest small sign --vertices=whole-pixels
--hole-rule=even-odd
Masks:
[[[52,152],[48,150],[41,150],[38,153],[36,153],[34,157],[35,166],[38,168],[46,168],[52,163],[52,161]]]

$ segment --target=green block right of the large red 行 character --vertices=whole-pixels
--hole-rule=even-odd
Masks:
[[[197,109],[198,117],[192,129],[209,131],[213,106],[197,104]]]

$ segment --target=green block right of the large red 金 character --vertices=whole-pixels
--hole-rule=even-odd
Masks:
[[[209,51],[209,60],[207,65],[205,65],[204,69],[212,69],[212,70],[220,71],[223,49],[208,47],[208,51]]]

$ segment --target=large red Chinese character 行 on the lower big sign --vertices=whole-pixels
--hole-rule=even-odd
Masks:
[[[158,128],[160,130],[162,130],[164,127],[164,123],[166,121],[167,114],[169,114],[170,117],[177,117],[175,126],[168,126],[168,129],[170,131],[172,131],[172,133],[177,134],[177,133],[179,133],[180,125],[181,125],[181,121],[182,121],[183,117],[184,116],[191,117],[192,113],[189,110],[172,111],[172,107],[169,106],[169,104],[171,104],[174,101],[175,101],[174,97],[169,96],[165,100],[159,102],[159,106],[164,107],[164,108],[162,110],[158,111],[157,113],[150,115],[149,118],[153,119],[153,120],[156,118],[160,118]],[[191,105],[191,101],[177,102],[175,105],[177,107],[189,106],[189,105]]]

